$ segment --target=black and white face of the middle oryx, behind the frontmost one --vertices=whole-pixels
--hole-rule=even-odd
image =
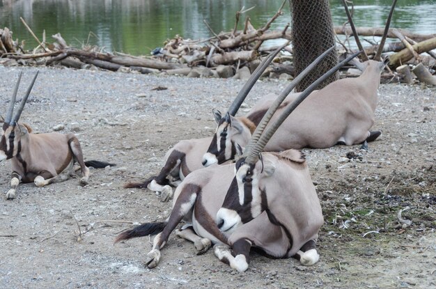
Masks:
[[[222,164],[236,155],[235,143],[228,131],[232,130],[231,117],[226,114],[219,120],[219,125],[212,138],[207,153],[203,155],[203,166]]]

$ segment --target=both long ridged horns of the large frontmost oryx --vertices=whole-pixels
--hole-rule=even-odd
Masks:
[[[327,49],[326,52],[318,56],[318,58],[315,59],[306,69],[304,69],[295,79],[286,87],[285,91],[283,91],[279,97],[274,101],[270,109],[268,109],[265,116],[263,116],[262,120],[260,120],[260,123],[258,127],[256,127],[256,130],[251,137],[249,144],[244,151],[244,154],[242,157],[245,157],[245,163],[246,164],[256,164],[258,161],[258,157],[260,152],[263,151],[263,148],[265,148],[267,142],[271,139],[271,137],[274,135],[274,133],[277,131],[277,129],[280,127],[280,125],[283,123],[283,121],[288,118],[288,116],[294,111],[294,109],[307,97],[309,94],[315,90],[315,88],[322,83],[322,81],[325,81],[328,77],[334,74],[339,68],[341,68],[345,63],[348,63],[352,58],[355,58],[357,55],[359,55],[361,52],[356,52],[355,54],[352,54],[351,56],[348,56],[345,60],[341,61],[341,63],[338,63],[334,68],[330,69],[325,73],[325,75],[322,75],[322,77],[318,78],[316,81],[313,82],[309,87],[307,87],[298,97],[297,99],[292,102],[291,104],[288,104],[288,106],[285,108],[283,113],[279,116],[279,118],[270,126],[268,129],[264,132],[265,127],[267,123],[270,121],[274,113],[277,111],[278,107],[280,106],[281,102],[285,100],[286,96],[290,93],[290,91],[293,90],[295,86],[301,81],[306,75],[318,65],[322,61],[327,54],[332,52],[332,50],[335,47],[331,47]]]

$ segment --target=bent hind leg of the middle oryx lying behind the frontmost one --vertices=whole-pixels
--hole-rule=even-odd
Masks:
[[[173,150],[166,159],[165,165],[162,170],[160,170],[159,175],[148,183],[148,189],[160,193],[160,201],[166,202],[173,198],[173,189],[168,185],[169,180],[166,177],[174,175],[178,177],[180,164],[183,162],[183,159],[185,159],[185,153]]]

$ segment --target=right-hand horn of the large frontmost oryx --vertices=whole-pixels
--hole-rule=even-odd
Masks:
[[[306,88],[298,97],[297,99],[289,104],[286,109],[283,111],[281,116],[273,123],[268,129],[265,131],[262,136],[260,136],[259,141],[256,143],[255,146],[247,153],[247,159],[245,159],[245,162],[247,164],[255,164],[258,160],[259,153],[265,148],[267,142],[271,139],[271,137],[274,135],[274,133],[277,131],[277,129],[280,127],[280,125],[283,123],[283,121],[288,118],[288,116],[294,111],[295,108],[304,100],[306,99],[309,94],[315,90],[315,88],[322,83],[325,79],[330,77],[330,75],[334,74],[339,68],[341,68],[345,63],[348,63],[352,58],[355,58],[357,55],[359,55],[361,52],[356,52],[355,54],[352,54],[351,56],[348,56],[344,61],[336,65],[334,68],[330,69],[328,72],[325,73],[325,75],[322,75],[319,79],[313,82],[308,88]]]

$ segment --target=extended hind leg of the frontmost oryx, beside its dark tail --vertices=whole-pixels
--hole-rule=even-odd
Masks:
[[[200,187],[196,185],[185,185],[180,188],[180,192],[176,203],[173,205],[173,210],[169,216],[168,222],[162,231],[156,235],[153,240],[153,249],[147,254],[145,264],[149,268],[156,267],[160,260],[160,250],[168,241],[168,237],[176,226],[182,221],[183,217],[192,210],[196,197],[201,191]]]

